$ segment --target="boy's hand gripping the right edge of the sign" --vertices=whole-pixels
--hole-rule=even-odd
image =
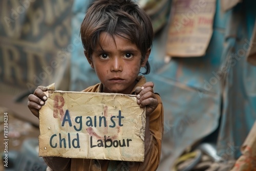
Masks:
[[[146,115],[150,115],[158,105],[157,97],[153,91],[154,83],[146,82],[140,88],[136,88],[135,93],[137,94],[137,103],[140,104],[141,108],[146,106]]]

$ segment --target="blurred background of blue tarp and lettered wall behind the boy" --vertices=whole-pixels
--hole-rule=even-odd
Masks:
[[[38,119],[27,107],[37,86],[55,82],[56,90],[81,91],[98,83],[79,36],[90,2],[0,1],[1,163],[6,115],[9,156],[0,170],[46,169],[38,157]],[[234,163],[255,154],[243,143],[255,139],[248,134],[256,118],[256,1],[136,2],[155,32],[146,78],[164,105],[158,170],[254,170],[251,160]]]

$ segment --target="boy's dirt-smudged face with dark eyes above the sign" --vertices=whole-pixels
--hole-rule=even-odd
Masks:
[[[87,59],[103,84],[103,92],[130,94],[151,50],[148,49],[145,60],[141,62],[140,50],[129,39],[119,35],[113,38],[103,32],[99,44],[101,47],[98,46]]]

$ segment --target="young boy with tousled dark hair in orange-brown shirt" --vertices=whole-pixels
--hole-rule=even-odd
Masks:
[[[137,103],[146,106],[144,162],[44,157],[52,170],[156,170],[163,135],[163,106],[153,91],[154,83],[138,76],[140,68],[150,73],[147,61],[152,46],[150,18],[130,0],[93,1],[81,24],[84,54],[100,83],[83,92],[136,94]],[[28,107],[38,117],[45,104],[46,87],[29,95]],[[49,168],[49,170],[51,170]]]

